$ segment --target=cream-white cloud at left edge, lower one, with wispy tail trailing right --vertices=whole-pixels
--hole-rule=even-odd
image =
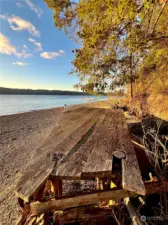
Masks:
[[[26,52],[25,49],[18,52],[15,46],[11,45],[10,40],[0,33],[0,53],[5,55],[15,55],[18,58],[30,58],[33,54]]]

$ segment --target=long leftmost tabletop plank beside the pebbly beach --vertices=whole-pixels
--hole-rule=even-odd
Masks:
[[[77,112],[78,110],[79,113]],[[50,153],[60,152],[67,154],[71,151],[76,142],[88,132],[89,126],[92,126],[96,122],[101,113],[101,109],[83,108],[78,110],[72,111],[72,114],[68,113],[69,115],[63,116],[59,121],[60,125],[57,126],[57,129],[53,130],[44,144],[37,149],[26,167],[25,173],[17,186],[17,195],[26,202],[41,188],[54,168],[55,162],[50,160]],[[78,115],[80,116],[78,117]],[[81,115],[83,116],[81,117]],[[87,122],[92,119],[93,122],[88,126]],[[81,127],[82,132],[79,132]],[[69,142],[68,145],[63,144],[64,141],[67,143],[66,140]],[[61,144],[63,145],[62,148],[60,148]]]

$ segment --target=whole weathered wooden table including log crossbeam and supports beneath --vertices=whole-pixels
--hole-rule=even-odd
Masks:
[[[104,181],[112,182],[116,173],[121,175],[120,182],[105,189]],[[62,196],[63,180],[94,180],[98,189],[66,199]],[[30,211],[39,215],[48,210],[146,195],[150,190],[143,182],[124,113],[78,107],[62,114],[50,136],[35,151],[17,185],[16,195],[23,211],[29,206],[26,215]],[[45,201],[46,193],[54,199]],[[24,224],[23,218],[18,224]]]

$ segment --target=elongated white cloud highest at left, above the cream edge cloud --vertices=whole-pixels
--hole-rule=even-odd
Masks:
[[[0,19],[7,20],[10,27],[14,31],[27,30],[33,36],[37,36],[37,37],[40,36],[40,32],[36,29],[36,27],[32,23],[18,16],[0,15]]]

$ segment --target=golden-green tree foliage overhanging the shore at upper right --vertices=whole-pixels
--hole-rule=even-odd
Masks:
[[[44,1],[55,26],[81,46],[73,51],[76,87],[126,89],[131,101],[167,97],[167,0]]]

